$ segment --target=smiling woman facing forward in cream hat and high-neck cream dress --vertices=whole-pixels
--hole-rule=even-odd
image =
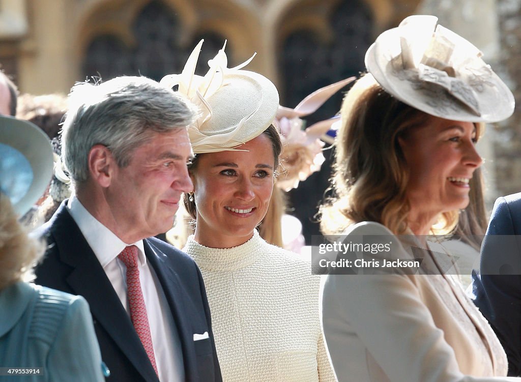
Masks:
[[[320,279],[311,264],[268,244],[256,227],[266,215],[282,149],[272,125],[275,85],[227,68],[224,47],[195,76],[196,46],[181,75],[166,76],[201,108],[188,128],[194,191],[185,207],[196,220],[184,251],[201,268],[222,379],[227,382],[336,380],[322,338]]]

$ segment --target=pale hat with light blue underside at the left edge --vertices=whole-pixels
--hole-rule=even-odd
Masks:
[[[29,121],[0,116],[0,192],[23,215],[44,194],[53,175],[47,135]]]

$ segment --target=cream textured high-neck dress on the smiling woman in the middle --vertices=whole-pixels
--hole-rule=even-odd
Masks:
[[[310,263],[257,231],[229,249],[190,236],[183,250],[203,274],[224,381],[336,381],[320,328],[320,277]]]

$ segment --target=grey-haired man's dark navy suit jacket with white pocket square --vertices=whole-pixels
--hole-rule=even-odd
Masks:
[[[46,238],[48,248],[43,262],[36,268],[36,284],[82,295],[89,302],[102,359],[111,373],[107,381],[157,382],[130,316],[69,214],[66,203],[64,201],[51,220],[37,232]],[[185,380],[221,381],[210,310],[199,268],[190,256],[158,239],[145,239],[144,249],[177,326]],[[193,340],[194,334],[206,331],[208,339]]]

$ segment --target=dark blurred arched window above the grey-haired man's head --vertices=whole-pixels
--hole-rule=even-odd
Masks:
[[[82,73],[103,79],[143,75],[159,80],[181,71],[200,38],[205,38],[207,47],[200,58],[203,66],[222,46],[224,36],[213,31],[191,36],[178,15],[171,5],[153,0],[135,9],[132,19],[107,22],[85,46]]]

